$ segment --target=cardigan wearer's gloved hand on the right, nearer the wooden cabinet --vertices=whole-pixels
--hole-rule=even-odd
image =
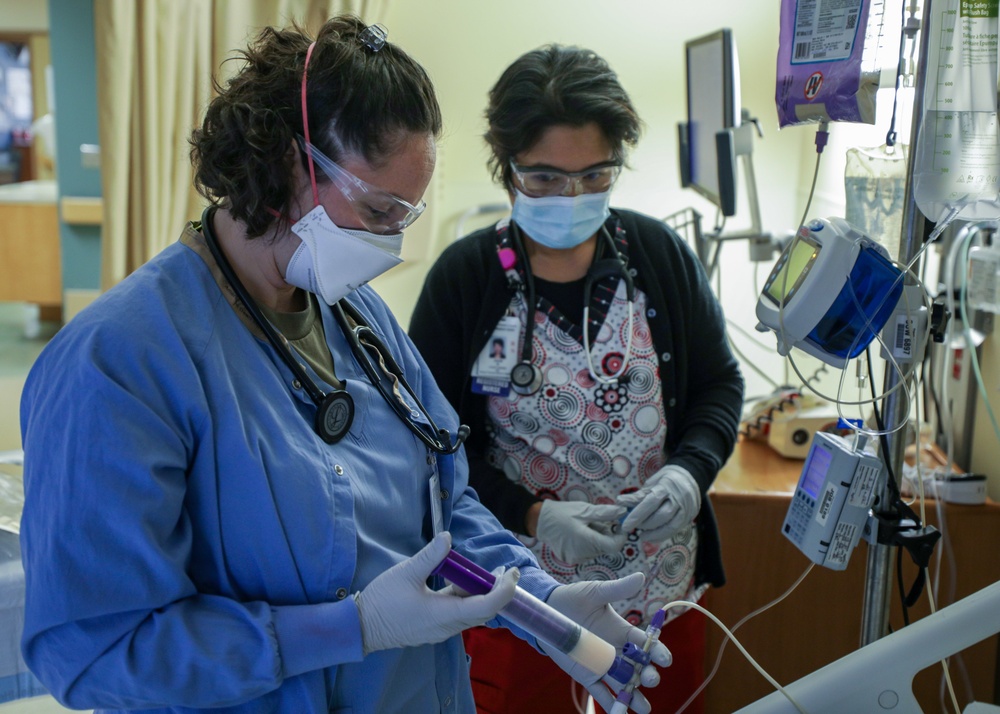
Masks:
[[[616,500],[632,512],[622,531],[643,531],[643,540],[662,541],[691,524],[701,510],[701,490],[687,469],[667,464],[638,491],[623,493]]]

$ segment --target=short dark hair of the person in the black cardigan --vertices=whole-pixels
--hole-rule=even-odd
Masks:
[[[580,47],[546,45],[521,55],[489,93],[484,134],[493,178],[512,186],[511,160],[557,125],[600,127],[617,161],[639,141],[642,123],[608,63]]]

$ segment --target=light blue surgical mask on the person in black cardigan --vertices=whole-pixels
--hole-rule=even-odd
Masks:
[[[525,196],[514,189],[511,219],[547,248],[575,248],[594,235],[611,215],[611,191],[576,196]]]

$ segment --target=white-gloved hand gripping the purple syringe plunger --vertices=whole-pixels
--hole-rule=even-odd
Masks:
[[[483,595],[463,597],[452,585],[431,590],[426,580],[451,548],[451,534],[439,533],[408,560],[389,568],[355,593],[366,655],[395,647],[433,644],[481,625],[507,606],[521,577],[517,568],[502,574]]]

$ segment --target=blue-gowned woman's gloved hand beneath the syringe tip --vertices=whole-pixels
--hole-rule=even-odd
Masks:
[[[642,573],[632,573],[618,580],[587,580],[571,585],[560,585],[552,591],[547,602],[569,619],[611,643],[618,650],[618,654],[621,654],[626,642],[642,647],[646,642],[646,633],[630,625],[611,608],[609,603],[635,597],[642,590],[645,581],[646,578]],[[624,682],[595,675],[558,650],[552,648],[550,652],[544,643],[539,642],[539,645],[553,662],[587,688],[604,711],[611,711],[615,696],[625,686]],[[659,641],[650,650],[650,657],[652,663],[643,667],[640,675],[640,684],[644,687],[655,687],[660,683],[660,673],[653,664],[669,667],[672,661],[670,650]],[[609,690],[604,684],[611,689]],[[648,714],[651,709],[649,701],[638,687],[633,691],[631,708],[638,714]]]

